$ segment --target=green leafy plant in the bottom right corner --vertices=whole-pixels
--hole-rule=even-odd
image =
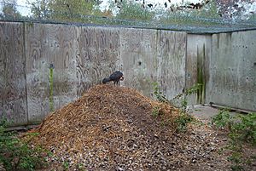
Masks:
[[[245,161],[250,161],[242,157],[243,144],[256,146],[256,113],[231,116],[228,110],[221,110],[212,117],[212,124],[229,131],[228,149],[231,154],[228,160],[233,163],[232,170],[242,170],[243,165],[247,164]],[[255,160],[253,156],[251,159]]]

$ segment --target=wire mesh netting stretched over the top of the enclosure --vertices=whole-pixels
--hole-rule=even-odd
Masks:
[[[40,0],[38,0],[40,2]],[[175,11],[150,11],[138,6],[130,7],[125,17],[121,14],[106,14],[109,11],[99,12],[91,9],[90,13],[76,12],[63,9],[43,9],[38,11],[32,9],[32,5],[20,5],[17,3],[6,3],[0,0],[0,20],[26,21],[40,23],[61,23],[77,26],[124,26],[148,29],[163,29],[173,31],[189,31],[195,33],[216,33],[225,31],[241,31],[256,29],[256,20],[227,20],[216,17],[214,14],[198,14],[195,12]],[[63,5],[63,4],[62,4]],[[9,7],[9,13],[3,8]],[[41,4],[42,6],[42,4]],[[34,6],[34,8],[37,6]],[[12,10],[10,10],[12,9]],[[207,9],[209,13],[210,9]],[[207,11],[206,10],[206,11]],[[119,10],[120,11],[120,10]],[[124,11],[123,11],[124,12]],[[151,16],[152,15],[152,16]],[[128,16],[128,17],[127,17]]]

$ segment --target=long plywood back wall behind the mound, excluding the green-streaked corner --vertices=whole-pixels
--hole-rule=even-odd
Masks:
[[[186,35],[2,22],[0,118],[13,126],[39,123],[51,105],[61,108],[117,70],[125,74],[124,86],[153,96],[152,83],[158,82],[172,99],[185,85]]]

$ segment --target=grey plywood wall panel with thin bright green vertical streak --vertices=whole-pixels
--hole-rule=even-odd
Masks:
[[[49,113],[51,103],[54,109],[59,109],[77,98],[78,35],[79,30],[75,26],[26,24],[26,84],[30,123],[40,122]],[[52,77],[49,69],[51,64],[54,66]]]

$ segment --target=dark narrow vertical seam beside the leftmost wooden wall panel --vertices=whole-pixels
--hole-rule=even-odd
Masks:
[[[28,100],[27,100],[27,80],[26,80],[26,22],[23,22],[23,55],[25,58],[25,94],[26,94],[26,124],[28,125]]]

